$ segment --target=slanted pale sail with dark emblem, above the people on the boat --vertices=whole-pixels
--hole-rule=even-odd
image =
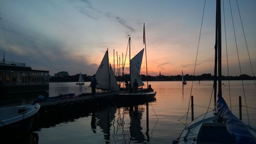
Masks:
[[[144,83],[140,78],[140,68],[141,68],[143,53],[144,53],[144,48],[136,56],[134,56],[130,61],[130,75],[131,75],[132,86],[135,79],[137,79],[137,82],[139,84],[138,86],[144,86]]]

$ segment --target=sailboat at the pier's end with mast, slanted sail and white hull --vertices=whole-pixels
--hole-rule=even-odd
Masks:
[[[129,49],[130,49],[130,42],[131,38],[129,37]],[[130,53],[130,51],[129,51]],[[142,58],[143,58],[143,53],[144,53],[144,48],[132,59],[130,59],[130,83],[131,83],[131,88],[134,87],[134,81],[137,80],[138,82],[138,87],[144,86],[144,83],[142,82],[140,78],[140,69],[141,69],[141,64],[142,64]],[[120,93],[118,94],[119,96],[123,97],[128,97],[128,98],[154,98],[156,96],[156,92],[154,91],[139,91],[139,92],[126,92],[126,93]]]

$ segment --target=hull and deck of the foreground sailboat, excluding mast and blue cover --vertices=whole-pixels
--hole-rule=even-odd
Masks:
[[[173,143],[178,144],[199,144],[199,143],[224,143],[231,142],[231,135],[227,131],[226,125],[219,122],[218,115],[214,111],[203,114],[192,121],[181,133],[180,138]],[[256,128],[244,123],[251,129],[255,139]]]

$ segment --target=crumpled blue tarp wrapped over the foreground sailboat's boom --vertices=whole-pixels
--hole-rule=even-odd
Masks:
[[[255,144],[248,127],[229,110],[227,103],[222,97],[222,92],[218,93],[217,110],[219,117],[224,121],[231,140],[235,144]]]

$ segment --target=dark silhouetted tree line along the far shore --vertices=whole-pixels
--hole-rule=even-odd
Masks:
[[[85,82],[90,82],[92,76],[88,76],[87,74],[83,75],[84,81]],[[183,76],[185,81],[192,81],[193,80],[193,75],[186,74]],[[70,76],[64,76],[64,77],[50,77],[49,82],[77,82],[79,79],[79,74],[76,75],[70,75]],[[124,75],[124,76],[116,76],[117,81],[124,81],[124,80],[129,81],[129,75]],[[146,76],[146,75],[141,75],[142,81],[181,81],[182,76],[181,75],[174,75],[174,76],[165,76],[165,75],[159,75],[159,76]],[[250,76],[247,74],[242,74],[240,76],[222,76],[222,80],[255,80],[255,76]],[[194,81],[213,81],[214,80],[214,75],[208,73],[204,73],[202,75],[195,75],[194,76]]]

